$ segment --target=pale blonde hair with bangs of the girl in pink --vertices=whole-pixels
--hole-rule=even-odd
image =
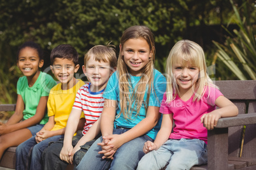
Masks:
[[[198,79],[194,88],[193,101],[199,101],[201,99],[201,96],[204,95],[206,89],[210,86],[216,87],[207,74],[207,67],[203,48],[201,48],[201,46],[199,46],[199,44],[197,44],[196,42],[181,40],[176,42],[167,58],[166,102],[173,101],[179,93],[178,85],[176,84],[172,70],[175,63],[181,63],[181,65],[183,66],[186,66],[188,63],[190,63],[191,65],[199,69]]]

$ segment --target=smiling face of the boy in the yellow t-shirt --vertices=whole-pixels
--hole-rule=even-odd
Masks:
[[[69,89],[69,85],[73,87],[75,83],[74,74],[78,71],[79,65],[75,65],[73,60],[67,58],[55,58],[53,65],[50,66],[54,76]],[[66,89],[65,88],[65,89]]]

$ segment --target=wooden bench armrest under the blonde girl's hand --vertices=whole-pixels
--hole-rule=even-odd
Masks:
[[[246,124],[256,124],[256,113],[220,118],[218,119],[218,123],[215,128],[228,128],[232,126],[243,126]]]

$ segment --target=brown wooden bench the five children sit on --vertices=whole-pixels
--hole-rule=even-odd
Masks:
[[[239,115],[219,119],[217,127],[208,131],[208,165],[192,170],[256,169],[256,81],[215,83],[238,107]],[[0,110],[13,111],[15,105],[0,105]],[[0,166],[15,169],[15,148],[6,150]]]

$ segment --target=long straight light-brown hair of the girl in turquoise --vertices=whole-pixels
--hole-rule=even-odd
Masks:
[[[122,49],[120,49],[117,61],[117,74],[120,89],[120,113],[117,115],[117,117],[123,114],[125,119],[131,119],[131,113],[134,111],[131,110],[131,105],[132,103],[134,103],[134,101],[136,107],[135,110],[137,112],[136,116],[139,115],[139,110],[141,106],[144,106],[145,110],[147,110],[150,92],[153,89],[152,82],[154,69],[153,63],[155,62],[155,42],[151,30],[148,27],[142,25],[134,25],[132,27],[129,27],[124,31],[120,40],[120,45],[123,48],[125,42],[129,39],[139,38],[143,38],[146,42],[148,42],[151,55],[149,56],[150,58],[148,60],[148,63],[146,63],[145,67],[141,70],[141,79],[139,80],[135,89],[132,89],[131,86],[131,75],[129,74],[128,66],[124,62],[124,56],[121,53]],[[132,94],[130,94],[130,91],[133,91]],[[147,93],[146,102],[144,101],[144,91],[146,91]],[[129,107],[127,107],[127,105],[129,105]]]

